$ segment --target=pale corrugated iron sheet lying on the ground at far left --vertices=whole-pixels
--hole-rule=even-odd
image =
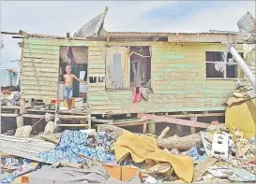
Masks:
[[[53,143],[46,141],[1,134],[1,151],[18,157],[45,163],[38,158],[38,153],[54,148],[55,145]]]

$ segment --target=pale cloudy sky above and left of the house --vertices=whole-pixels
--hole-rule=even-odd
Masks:
[[[74,33],[110,7],[107,31],[207,32],[238,31],[236,22],[249,11],[255,16],[254,1],[5,1],[1,2],[2,31],[66,35]],[[3,35],[1,60],[20,59],[18,39]]]

